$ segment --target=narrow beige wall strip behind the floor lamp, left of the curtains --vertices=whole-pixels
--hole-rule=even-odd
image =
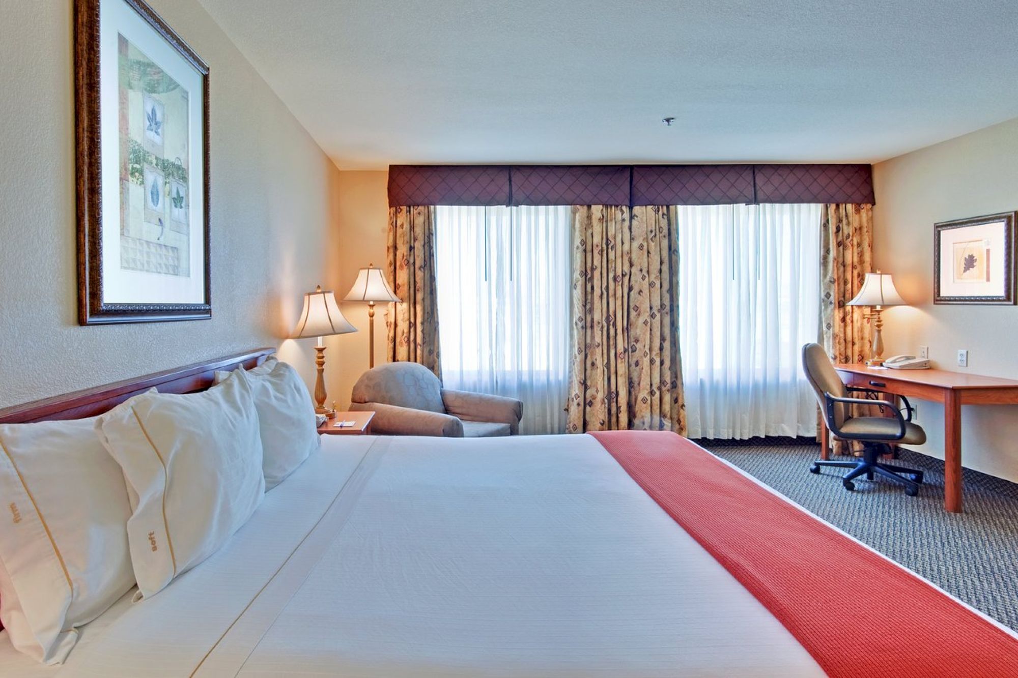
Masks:
[[[389,196],[386,171],[349,171],[339,173],[339,287],[336,298],[341,299],[350,290],[361,267],[374,264],[386,268],[386,229],[389,219]],[[392,277],[386,278],[392,284]],[[390,304],[375,306],[375,364],[387,361],[385,314]],[[336,375],[336,404],[346,407],[354,382],[367,370],[367,304],[342,302],[343,316],[357,332],[339,339],[343,353]]]

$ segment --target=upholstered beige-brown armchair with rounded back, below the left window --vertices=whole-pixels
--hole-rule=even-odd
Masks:
[[[351,410],[374,410],[372,431],[383,436],[488,438],[515,436],[523,403],[515,398],[452,391],[416,362],[389,362],[360,376]]]

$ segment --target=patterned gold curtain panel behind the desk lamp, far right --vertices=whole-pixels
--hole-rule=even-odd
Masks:
[[[862,288],[873,260],[873,207],[825,205],[821,211],[821,328],[835,362],[863,362],[870,355],[869,322],[860,306],[846,305]],[[834,441],[835,454],[848,454]]]

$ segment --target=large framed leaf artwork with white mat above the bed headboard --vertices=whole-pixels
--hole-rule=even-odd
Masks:
[[[209,67],[144,0],[75,0],[78,322],[212,317]]]

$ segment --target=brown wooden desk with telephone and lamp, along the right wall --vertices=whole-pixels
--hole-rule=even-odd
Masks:
[[[944,403],[944,508],[962,510],[961,406],[1018,404],[1018,381],[946,370],[891,370],[836,364],[847,386]],[[828,430],[821,420],[821,458],[830,456]]]

